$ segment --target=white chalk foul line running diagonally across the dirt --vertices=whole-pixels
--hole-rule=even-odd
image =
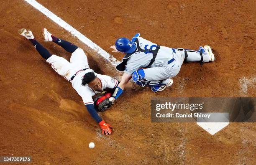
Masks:
[[[25,0],[27,3],[32,5],[34,8],[39,10],[41,13],[46,15],[48,18],[53,20],[55,23],[60,25],[62,28],[65,30],[69,31],[73,36],[77,37],[80,41],[82,41],[85,45],[89,46],[92,48],[92,50],[96,51],[97,53],[100,54],[103,58],[106,60],[110,61],[110,63],[113,64],[113,66],[116,66],[120,61],[118,61],[116,58],[111,56],[108,52],[104,51],[100,46],[97,46],[96,43],[92,42],[89,38],[85,37],[82,33],[77,31],[75,28],[73,28],[71,25],[66,23],[64,20],[59,18],[57,15],[52,13],[50,10],[46,9],[43,5],[40,3],[36,2],[36,0]]]

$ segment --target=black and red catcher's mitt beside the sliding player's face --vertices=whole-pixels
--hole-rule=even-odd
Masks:
[[[105,95],[98,95],[94,98],[94,107],[98,112],[103,112],[111,107],[113,103],[108,101],[110,96],[111,94],[107,93]]]

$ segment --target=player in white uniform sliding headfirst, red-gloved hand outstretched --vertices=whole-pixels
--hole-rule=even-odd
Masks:
[[[100,125],[102,134],[111,134],[112,127],[100,118],[95,107],[99,108],[100,111],[103,111],[111,106],[111,102],[108,102],[108,98],[111,96],[111,93],[113,93],[119,82],[116,79],[112,79],[110,76],[95,73],[90,69],[87,57],[81,48],[56,38],[51,35],[46,28],[44,28],[43,34],[44,41],[52,41],[64,48],[67,52],[72,53],[70,62],[62,57],[49,53],[46,48],[36,41],[31,31],[23,28],[19,30],[19,34],[31,41],[38,53],[46,59],[46,62],[51,64],[51,67],[59,75],[72,83],[73,88],[82,97],[84,105],[87,107],[90,115]],[[94,104],[92,96],[97,93],[105,95],[97,99]]]

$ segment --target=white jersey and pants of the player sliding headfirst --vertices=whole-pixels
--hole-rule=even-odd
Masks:
[[[63,57],[56,55],[52,55],[46,61],[51,64],[54,71],[67,79],[67,81],[72,82],[73,88],[82,97],[84,105],[93,104],[92,96],[94,96],[97,91],[93,91],[88,85],[82,86],[84,74],[93,72],[93,70],[90,69],[87,57],[81,48],[77,48],[77,50],[72,53],[70,62]],[[83,69],[86,70],[82,71]],[[75,76],[72,81],[71,78],[74,74],[77,74],[77,76]],[[118,84],[118,81],[110,76],[97,73],[95,73],[95,76],[100,79],[102,90],[105,90],[106,88],[113,89]]]

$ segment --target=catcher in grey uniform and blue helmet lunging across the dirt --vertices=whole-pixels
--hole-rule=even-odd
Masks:
[[[118,38],[113,52],[126,53],[116,69],[124,72],[120,84],[109,101],[114,102],[122,94],[130,79],[140,86],[149,86],[153,92],[163,91],[171,86],[183,62],[201,64],[215,60],[210,46],[200,46],[198,51],[184,48],[168,48],[152,43],[137,33],[132,40]],[[146,69],[145,69],[146,68]]]

